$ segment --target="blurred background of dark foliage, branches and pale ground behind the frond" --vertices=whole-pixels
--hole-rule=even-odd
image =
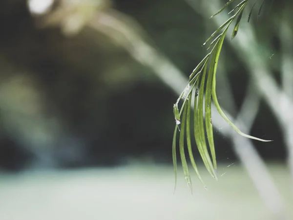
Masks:
[[[1,0],[0,219],[293,219],[289,0],[248,23],[249,2],[217,73],[229,117],[273,141],[213,110],[218,181],[195,150],[208,191],[194,174],[191,196],[179,168],[173,195],[172,107],[225,3]]]

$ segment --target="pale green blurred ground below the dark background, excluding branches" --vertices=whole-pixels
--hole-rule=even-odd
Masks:
[[[293,216],[289,172],[270,170]],[[171,166],[0,174],[0,220],[272,219],[239,165],[220,166],[219,181],[201,173],[208,191],[193,176],[193,196],[181,174],[173,195]]]

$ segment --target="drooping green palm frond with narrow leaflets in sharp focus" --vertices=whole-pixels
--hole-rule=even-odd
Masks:
[[[225,8],[227,8],[234,0],[227,2],[224,7],[222,7],[217,13],[213,16],[221,13]],[[257,0],[256,0],[257,1]],[[217,179],[217,163],[216,163],[216,153],[214,147],[213,139],[213,128],[211,121],[211,105],[212,101],[215,105],[217,111],[220,115],[226,120],[226,122],[240,135],[259,140],[259,141],[269,141],[253,137],[251,135],[241,132],[227,117],[224,111],[221,109],[216,95],[216,72],[217,65],[219,62],[220,53],[226,37],[227,31],[231,23],[236,20],[232,36],[233,39],[239,29],[240,21],[242,19],[243,11],[247,6],[249,0],[243,0],[237,4],[231,12],[234,14],[224,22],[215,32],[211,34],[208,40],[204,43],[207,44],[213,37],[215,39],[209,44],[208,49],[212,48],[208,55],[195,67],[192,73],[189,76],[189,82],[187,87],[181,93],[176,103],[174,104],[173,111],[176,121],[176,126],[173,136],[173,146],[172,146],[172,155],[173,155],[173,165],[175,173],[175,188],[176,188],[176,179],[177,179],[177,159],[176,159],[176,137],[177,130],[180,132],[179,137],[179,152],[183,167],[183,172],[185,175],[186,182],[188,187],[192,192],[191,178],[188,171],[188,163],[185,155],[185,138],[187,140],[188,154],[191,165],[195,170],[196,175],[199,180],[204,184],[203,179],[201,178],[199,171],[197,169],[191,146],[191,135],[190,135],[190,121],[191,121],[191,105],[193,100],[193,127],[194,127],[194,139],[197,145],[199,154],[211,176]],[[255,4],[254,4],[255,5]],[[254,7],[251,8],[251,11]],[[263,5],[263,4],[262,4]],[[262,7],[261,5],[261,7]],[[261,10],[261,8],[260,8]],[[230,13],[231,13],[230,12]],[[212,17],[213,17],[212,16]],[[251,12],[249,19],[251,17]],[[237,19],[236,19],[237,18]],[[222,31],[223,30],[223,31]],[[222,33],[220,33],[222,31]],[[183,99],[183,103],[180,108],[178,105]],[[181,127],[181,131],[179,130]],[[185,134],[186,133],[186,134]],[[207,140],[208,141],[207,141]],[[208,142],[208,144],[207,144]],[[209,148],[208,148],[209,145]]]

